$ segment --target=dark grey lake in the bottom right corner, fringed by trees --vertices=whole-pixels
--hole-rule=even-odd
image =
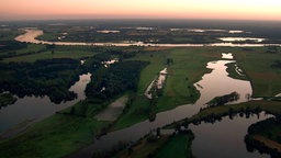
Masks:
[[[262,121],[272,115],[266,115],[265,112],[259,115],[246,117],[235,116],[233,120],[224,117],[221,122],[214,124],[201,123],[200,125],[190,125],[189,127],[195,134],[192,142],[192,153],[198,158],[215,156],[217,158],[266,158],[268,155],[259,153],[248,153],[244,143],[249,125],[257,121]]]

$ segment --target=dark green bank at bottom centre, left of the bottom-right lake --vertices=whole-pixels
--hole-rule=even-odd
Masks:
[[[149,139],[148,135],[139,139],[127,149],[117,153],[114,158],[192,158],[191,143],[194,138],[192,133],[179,133],[176,135],[161,135]]]

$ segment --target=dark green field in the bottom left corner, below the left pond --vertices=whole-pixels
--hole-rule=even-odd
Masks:
[[[0,157],[65,157],[91,144],[109,122],[55,114],[0,142]]]

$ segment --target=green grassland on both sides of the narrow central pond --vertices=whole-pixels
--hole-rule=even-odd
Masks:
[[[194,102],[200,94],[193,83],[209,72],[205,68],[206,63],[220,57],[221,53],[211,47],[172,48],[138,54],[134,59],[148,60],[150,65],[142,71],[137,97],[128,112],[120,117],[112,129],[121,129],[148,119],[150,101],[144,95],[144,92],[157,74],[167,67],[167,58],[172,58],[173,63],[168,67],[164,93],[157,99],[157,112]]]

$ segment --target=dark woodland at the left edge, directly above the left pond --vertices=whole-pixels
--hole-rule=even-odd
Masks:
[[[0,63],[0,71],[9,75],[0,79],[0,91],[25,95],[48,95],[52,102],[72,100],[76,93],[68,91],[79,80],[79,60],[54,58],[35,63]]]

